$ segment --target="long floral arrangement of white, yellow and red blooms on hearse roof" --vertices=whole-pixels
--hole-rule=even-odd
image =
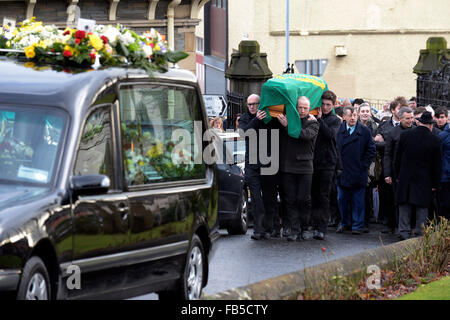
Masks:
[[[118,24],[97,25],[94,32],[43,25],[35,18],[20,23],[20,27],[0,30],[0,49],[12,49],[37,62],[71,66],[91,66],[98,59],[102,66],[131,65],[166,72],[167,62],[177,63],[187,53],[167,49],[165,37],[155,29],[138,35]]]

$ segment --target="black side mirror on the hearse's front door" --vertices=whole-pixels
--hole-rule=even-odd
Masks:
[[[109,178],[102,174],[86,174],[70,177],[70,190],[74,196],[99,195],[108,192]]]

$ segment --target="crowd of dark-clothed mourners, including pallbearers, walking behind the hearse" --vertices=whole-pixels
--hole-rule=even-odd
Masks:
[[[381,232],[404,240],[420,236],[437,216],[450,218],[446,107],[417,106],[414,98],[397,97],[376,110],[362,99],[341,103],[325,91],[316,115],[307,97],[298,99],[301,133],[294,138],[286,115],[263,121],[268,115],[258,109],[259,102],[256,94],[247,98],[247,112],[236,127],[267,129],[258,139],[267,137],[269,157],[270,132],[279,130],[279,170],[261,174],[271,164],[249,161],[246,137],[252,239],[323,240],[333,227],[360,235],[370,232],[369,223],[379,223]]]

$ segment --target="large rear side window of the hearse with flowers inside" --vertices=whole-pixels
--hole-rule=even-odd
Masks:
[[[120,87],[125,179],[142,185],[205,177],[201,109],[193,87],[134,84]],[[200,134],[194,126],[200,125]],[[194,161],[195,160],[195,161]]]

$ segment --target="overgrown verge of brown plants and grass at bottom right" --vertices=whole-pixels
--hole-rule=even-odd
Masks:
[[[305,274],[306,289],[298,300],[386,300],[415,291],[450,274],[450,223],[440,217],[423,228],[419,244],[408,247],[402,257],[386,266],[375,266],[371,274],[362,266],[351,275],[339,270]]]

